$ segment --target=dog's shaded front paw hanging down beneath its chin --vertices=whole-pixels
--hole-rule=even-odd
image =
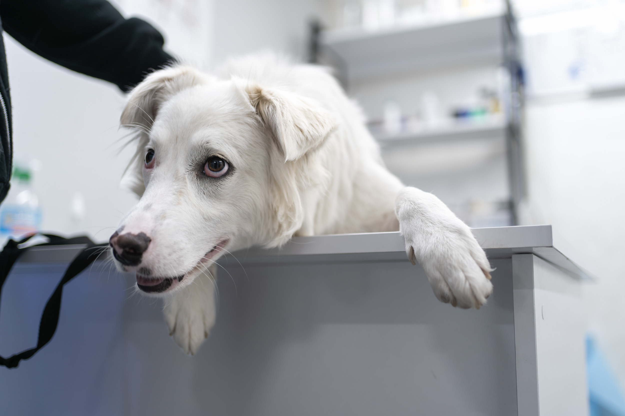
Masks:
[[[209,268],[215,275],[214,266]],[[204,273],[166,299],[163,313],[169,335],[185,354],[195,354],[215,323],[214,279]]]

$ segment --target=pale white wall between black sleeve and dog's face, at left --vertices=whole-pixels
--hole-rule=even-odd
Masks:
[[[13,107],[15,160],[37,159],[34,191],[42,207],[42,230],[88,234],[104,241],[136,198],[119,180],[129,150],[118,155],[118,87],[76,74],[27,51],[4,35]],[[81,193],[84,220],[73,220],[71,202]]]

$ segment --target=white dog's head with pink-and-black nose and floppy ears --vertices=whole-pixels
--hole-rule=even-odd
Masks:
[[[284,243],[302,223],[302,169],[334,123],[319,102],[178,66],[131,92],[138,205],[110,244],[139,289],[172,293],[222,253]]]

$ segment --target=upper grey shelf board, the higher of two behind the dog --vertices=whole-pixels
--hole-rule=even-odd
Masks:
[[[479,16],[393,26],[377,31],[337,29],[321,34],[321,44],[346,65],[350,77],[502,57],[505,12],[497,7]]]

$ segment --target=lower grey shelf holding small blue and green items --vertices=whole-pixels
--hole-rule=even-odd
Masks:
[[[481,122],[449,122],[436,127],[422,127],[400,133],[387,133],[381,125],[369,126],[369,131],[382,145],[406,142],[438,142],[442,140],[462,140],[471,138],[504,137],[506,123],[501,117],[493,117]]]

